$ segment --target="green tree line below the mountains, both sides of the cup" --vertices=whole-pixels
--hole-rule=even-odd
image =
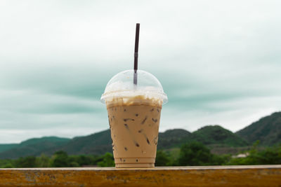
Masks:
[[[277,165],[281,164],[281,144],[258,149],[257,141],[247,157],[233,158],[232,155],[216,155],[207,146],[197,141],[183,144],[178,154],[171,151],[157,151],[155,166],[192,166],[192,165]],[[18,159],[0,160],[1,168],[13,167],[114,167],[111,153],[105,155],[67,155],[65,151],[48,156],[27,156]]]

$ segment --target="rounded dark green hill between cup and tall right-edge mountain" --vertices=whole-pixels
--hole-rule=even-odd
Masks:
[[[237,134],[226,130],[219,125],[207,125],[192,132],[189,137],[192,141],[200,141],[205,145],[247,146],[248,143]]]

